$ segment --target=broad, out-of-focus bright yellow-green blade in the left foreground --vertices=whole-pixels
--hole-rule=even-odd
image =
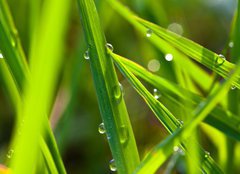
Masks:
[[[33,49],[35,57],[31,59],[31,81],[24,85],[23,109],[19,113],[24,116],[25,123],[21,136],[15,136],[15,155],[11,161],[14,173],[32,173],[35,168],[38,142],[45,122],[43,116],[49,112],[61,65],[69,8],[67,0],[46,1],[43,6],[36,38],[38,42]],[[28,165],[22,160],[23,156],[28,159]]]

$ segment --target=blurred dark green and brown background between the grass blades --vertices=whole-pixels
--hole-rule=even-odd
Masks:
[[[164,55],[146,40],[145,35],[138,33],[104,0],[95,2],[107,42],[114,46],[114,52],[146,68],[149,61],[157,59],[160,62],[160,69],[155,73],[176,81],[171,62],[165,60]],[[236,0],[122,0],[122,2],[140,17],[180,32],[183,36],[216,53],[221,53],[228,45]],[[28,55],[30,45],[28,1],[8,0],[8,3],[19,30],[25,54]],[[105,135],[98,133],[101,116],[89,62],[83,57],[87,48],[76,1],[72,3],[65,43],[65,61],[51,113],[52,127],[64,164],[70,174],[110,173],[108,163],[112,157]],[[124,87],[124,99],[131,117],[138,150],[143,157],[151,147],[167,136],[167,132],[134,89],[119,72],[118,74],[119,81]],[[147,85],[147,87],[150,91],[153,90],[151,86]],[[6,152],[14,126],[12,106],[5,94],[5,89],[1,85],[0,163],[2,164],[8,161]],[[160,100],[164,102],[164,97],[160,97]],[[169,102],[167,108],[178,113],[178,108]],[[214,144],[204,133],[200,135],[203,147],[218,161]],[[184,160],[181,158],[184,156],[177,162],[176,173],[185,173]],[[164,167],[166,166],[168,163]],[[162,173],[162,169],[159,173]]]

